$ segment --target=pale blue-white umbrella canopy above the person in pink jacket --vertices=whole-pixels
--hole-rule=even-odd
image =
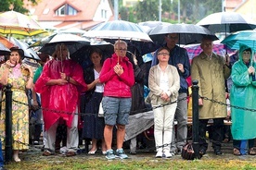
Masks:
[[[138,24],[124,20],[113,20],[96,25],[84,36],[100,39],[122,39],[138,42],[151,42],[147,33]]]

